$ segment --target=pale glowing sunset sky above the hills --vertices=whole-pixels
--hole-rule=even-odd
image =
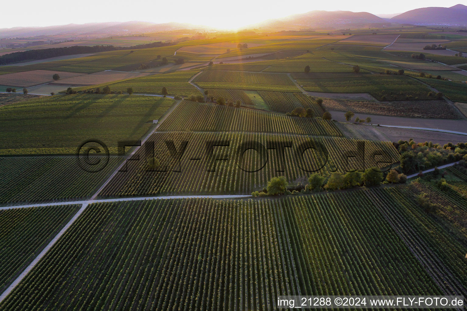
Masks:
[[[463,3],[462,3],[463,2]],[[21,1],[20,11],[4,12],[0,28],[51,26],[104,21],[188,22],[220,29],[235,29],[271,18],[313,10],[344,10],[373,14],[402,13],[418,7],[452,7],[466,0],[309,1],[309,0],[80,0],[46,4]]]

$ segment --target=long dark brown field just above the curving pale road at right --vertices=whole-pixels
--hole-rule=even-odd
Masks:
[[[353,111],[394,117],[460,119],[462,116],[444,100],[412,100],[401,102],[365,102],[324,99],[328,110]]]

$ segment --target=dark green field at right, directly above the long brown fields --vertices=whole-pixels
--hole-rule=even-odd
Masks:
[[[368,92],[379,100],[426,100],[430,90],[407,76],[363,76],[338,79],[298,79],[297,83],[305,90],[314,92],[361,93]]]

